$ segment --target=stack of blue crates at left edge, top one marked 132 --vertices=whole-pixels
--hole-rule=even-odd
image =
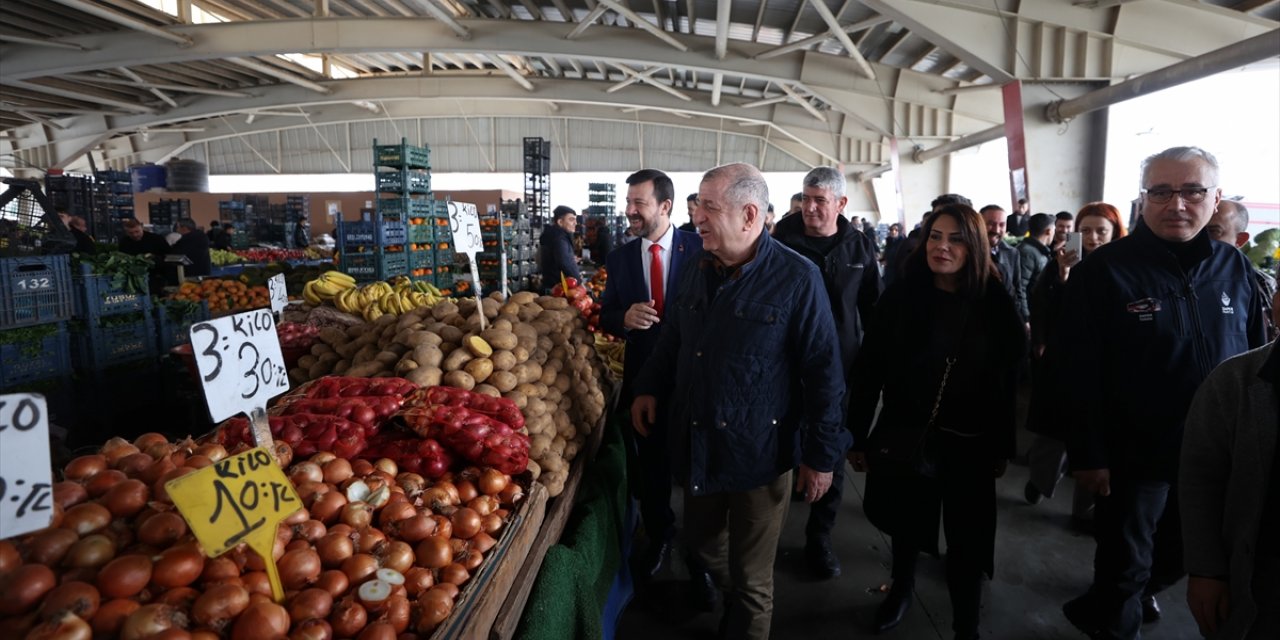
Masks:
[[[70,375],[69,257],[0,259],[0,390]]]

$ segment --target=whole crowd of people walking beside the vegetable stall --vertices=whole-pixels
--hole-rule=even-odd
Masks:
[[[941,525],[955,637],[979,637],[1024,371],[1037,434],[1025,498],[1052,498],[1070,474],[1073,515],[1094,532],[1092,585],[1064,603],[1066,620],[1088,637],[1142,637],[1157,594],[1189,573],[1206,636],[1280,637],[1274,279],[1236,250],[1247,212],[1222,204],[1212,155],[1148,157],[1128,234],[1103,202],[1050,216],[1019,201],[1006,215],[943,195],[910,234],[891,225],[882,255],[841,215],[832,168],[805,175],[772,233],[750,165],[703,177],[687,201],[695,234],[671,227],[664,174],[628,184],[644,239],[609,257],[603,325],[628,340],[641,579],[669,554],[675,484],[694,593],[708,609],[724,602],[721,637],[769,636],[788,492],[810,504],[809,568],[841,575],[846,460],[892,540],[874,630],[909,611]]]

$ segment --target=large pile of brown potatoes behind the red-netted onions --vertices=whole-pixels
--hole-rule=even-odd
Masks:
[[[581,315],[566,298],[530,292],[507,300],[495,292],[480,305],[448,300],[324,329],[289,378],[301,384],[324,375],[396,375],[511,399],[525,415],[529,467],[553,497],[604,415],[604,365]]]

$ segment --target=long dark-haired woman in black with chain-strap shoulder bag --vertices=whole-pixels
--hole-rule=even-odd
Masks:
[[[893,585],[877,632],[910,607],[916,558],[938,554],[941,517],[952,630],[969,640],[978,637],[982,575],[995,568],[996,479],[1014,457],[1024,332],[973,207],[941,207],[922,236],[904,278],[881,297],[850,374],[849,457],[867,472],[868,520],[892,538]]]

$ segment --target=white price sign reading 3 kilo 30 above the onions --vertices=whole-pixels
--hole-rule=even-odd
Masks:
[[[280,353],[275,319],[266,308],[197,323],[191,326],[191,347],[205,385],[209,416],[225,420],[247,413],[255,422],[257,444],[270,447],[266,401],[289,390],[289,374]],[[261,430],[259,416],[262,417]]]

